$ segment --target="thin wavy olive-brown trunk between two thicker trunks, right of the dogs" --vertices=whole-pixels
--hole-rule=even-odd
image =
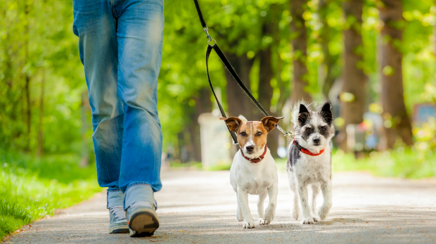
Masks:
[[[331,56],[328,50],[328,43],[331,41],[330,27],[327,23],[328,14],[328,0],[319,0],[319,18],[323,27],[320,30],[321,37],[321,48],[323,50],[324,61],[323,64],[326,65],[326,77],[324,77],[322,92],[326,100],[328,100],[328,92],[330,91],[333,83],[335,82],[335,76],[333,75],[332,69],[335,65],[335,57]]]

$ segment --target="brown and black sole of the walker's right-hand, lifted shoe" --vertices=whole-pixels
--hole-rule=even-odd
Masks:
[[[130,237],[153,236],[159,228],[158,216],[152,210],[141,210],[132,214],[128,221]]]

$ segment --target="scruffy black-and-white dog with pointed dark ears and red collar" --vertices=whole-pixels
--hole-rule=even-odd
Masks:
[[[286,172],[289,186],[294,193],[292,216],[298,219],[302,206],[301,224],[313,224],[326,219],[331,208],[331,139],[335,135],[330,103],[324,103],[316,111],[309,103],[297,103],[293,109],[295,139],[289,146]],[[312,208],[307,200],[307,186],[312,186]],[[315,215],[316,195],[319,186],[324,203]]]

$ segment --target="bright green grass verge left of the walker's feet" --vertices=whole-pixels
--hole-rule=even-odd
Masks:
[[[35,159],[0,150],[0,240],[56,209],[101,191],[95,165],[80,168],[77,155]]]

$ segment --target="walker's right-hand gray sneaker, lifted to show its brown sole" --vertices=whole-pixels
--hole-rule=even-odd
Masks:
[[[159,228],[155,206],[149,202],[136,202],[127,209],[130,237],[153,236]]]

